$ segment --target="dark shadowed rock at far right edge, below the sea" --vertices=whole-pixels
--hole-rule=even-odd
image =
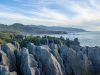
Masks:
[[[93,64],[95,75],[100,75],[100,47],[88,47],[88,58]]]

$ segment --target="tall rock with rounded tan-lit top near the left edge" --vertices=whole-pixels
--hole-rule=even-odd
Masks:
[[[9,59],[9,69],[11,72],[16,71],[16,57],[14,54],[15,47],[11,43],[1,45],[1,50],[4,51]]]

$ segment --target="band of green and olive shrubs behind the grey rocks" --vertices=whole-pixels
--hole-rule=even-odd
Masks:
[[[55,44],[65,44],[70,45],[80,45],[78,38],[75,38],[74,41],[64,38],[64,37],[50,37],[50,36],[25,36],[16,32],[0,32],[0,44],[16,41],[20,44],[21,47],[26,47],[27,43],[34,43],[35,45],[49,45],[51,43]]]

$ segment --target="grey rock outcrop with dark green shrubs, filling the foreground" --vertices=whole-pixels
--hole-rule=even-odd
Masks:
[[[0,45],[0,75],[100,75],[100,47],[74,40],[10,36]]]

